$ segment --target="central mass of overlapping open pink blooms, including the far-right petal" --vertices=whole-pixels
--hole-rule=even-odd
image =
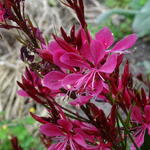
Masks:
[[[114,42],[113,34],[107,27],[100,30],[95,39],[91,38],[90,43],[86,39],[84,30],[80,31],[82,33],[80,47],[72,46],[59,38],[56,39],[57,42],[51,44],[53,61],[62,72],[49,72],[43,82],[48,88],[78,90],[86,93],[86,96],[97,97],[103,88],[107,87],[103,75],[109,75],[115,70],[118,55],[127,52],[126,50],[135,43],[137,36],[131,34],[117,42],[112,49],[107,50]],[[56,78],[58,75],[59,78]]]

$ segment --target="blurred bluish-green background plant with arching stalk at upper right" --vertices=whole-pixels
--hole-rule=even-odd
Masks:
[[[109,16],[113,15],[113,14],[121,14],[121,15],[126,15],[126,16],[135,16],[134,19],[132,19],[133,17],[129,17],[131,20],[133,20],[133,24],[132,24],[132,28],[133,31],[135,31],[139,37],[145,36],[149,34],[149,28],[147,26],[147,24],[149,24],[149,6],[150,6],[150,1],[147,1],[147,3],[143,6],[143,8],[141,8],[141,10],[139,10],[140,6],[142,6],[142,4],[144,4],[146,1],[137,2],[136,5],[134,4],[134,1],[129,5],[131,8],[134,8],[133,10],[131,9],[112,9],[104,14],[101,14],[98,18],[97,18],[97,22],[102,23],[106,18],[108,18]],[[137,5],[139,4],[139,7],[137,7]],[[140,5],[141,4],[141,5]],[[135,6],[135,7],[134,7]],[[141,23],[142,20],[142,23]],[[130,22],[131,23],[131,22]],[[129,24],[127,24],[127,22],[125,23],[127,26]]]

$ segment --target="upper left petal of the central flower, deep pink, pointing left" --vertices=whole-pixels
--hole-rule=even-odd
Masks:
[[[65,53],[61,56],[60,61],[72,67],[89,67],[83,58],[76,53]]]

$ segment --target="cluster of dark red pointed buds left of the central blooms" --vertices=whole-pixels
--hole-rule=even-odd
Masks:
[[[50,90],[49,88],[42,85],[41,78],[37,73],[26,68],[24,76],[22,76],[22,83],[18,82],[18,85],[21,87],[21,90],[18,90],[17,93],[20,96],[31,97],[36,102],[45,104],[45,101],[40,97],[55,97],[58,90]]]

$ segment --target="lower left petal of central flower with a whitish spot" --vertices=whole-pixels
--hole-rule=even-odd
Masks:
[[[67,90],[76,90],[77,88],[79,88],[76,86],[77,81],[82,77],[83,75],[79,73],[67,75],[62,81],[63,87]]]

